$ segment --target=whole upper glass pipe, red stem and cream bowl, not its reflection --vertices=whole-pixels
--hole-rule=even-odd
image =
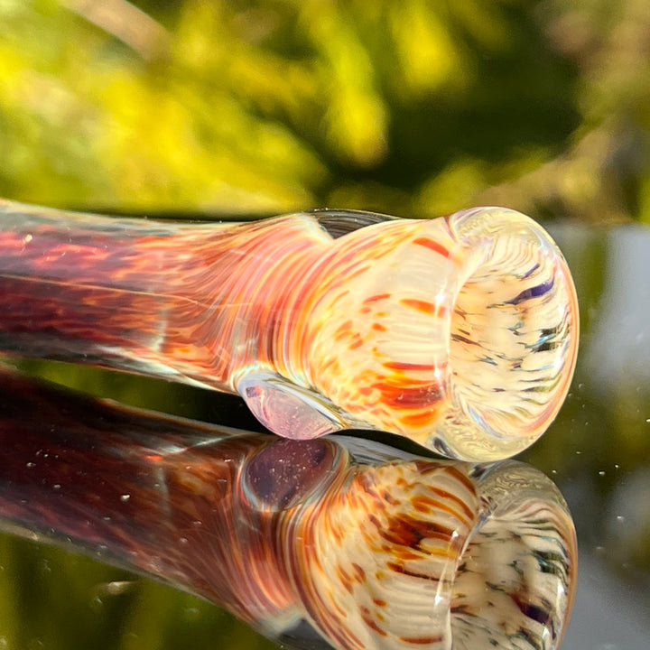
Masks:
[[[199,225],[0,202],[0,351],[238,393],[289,438],[507,458],[562,405],[578,330],[562,254],[509,209]]]

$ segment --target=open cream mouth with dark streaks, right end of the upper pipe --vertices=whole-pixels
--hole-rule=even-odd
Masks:
[[[474,261],[450,322],[450,401],[462,416],[452,410],[438,431],[447,455],[497,460],[532,444],[560,410],[578,301],[562,254],[530,219],[477,209],[450,221]]]

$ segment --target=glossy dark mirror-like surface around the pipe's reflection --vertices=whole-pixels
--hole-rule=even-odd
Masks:
[[[579,292],[571,393],[520,456],[561,488],[580,545],[564,650],[644,650],[650,640],[650,230],[550,227]],[[229,397],[60,365],[23,366],[125,402],[255,428]],[[389,439],[395,442],[395,439]],[[0,647],[254,648],[216,608],[84,558],[1,540]]]

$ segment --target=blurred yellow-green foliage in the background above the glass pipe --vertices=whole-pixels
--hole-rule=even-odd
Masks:
[[[0,195],[650,220],[645,0],[2,0]]]

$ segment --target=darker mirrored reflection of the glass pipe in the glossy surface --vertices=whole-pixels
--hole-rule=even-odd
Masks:
[[[524,463],[224,430],[6,373],[0,446],[0,528],[166,581],[284,645],[552,650],[568,621],[571,516]]]

